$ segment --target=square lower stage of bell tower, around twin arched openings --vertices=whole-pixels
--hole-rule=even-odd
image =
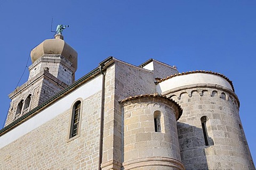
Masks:
[[[21,117],[22,115],[28,113],[31,109],[42,104],[44,101],[55,95],[57,92],[61,91],[67,87],[67,84],[62,83],[57,78],[53,78],[47,71],[42,71],[37,74],[33,79],[28,80],[21,87],[14,90],[11,94],[11,106],[9,113],[6,118],[5,126]],[[31,100],[29,107],[24,109],[26,98],[31,95]],[[16,114],[17,107],[20,101],[23,100],[23,105],[20,114]]]

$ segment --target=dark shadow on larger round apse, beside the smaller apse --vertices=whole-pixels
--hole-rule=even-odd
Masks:
[[[177,122],[181,161],[186,169],[209,169],[205,156],[204,134],[202,128]],[[209,138],[209,145],[213,140]]]

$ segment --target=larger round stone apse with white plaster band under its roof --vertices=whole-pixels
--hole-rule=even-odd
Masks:
[[[239,100],[222,74],[193,71],[157,82],[183,109],[177,122],[186,169],[255,169],[239,118]]]

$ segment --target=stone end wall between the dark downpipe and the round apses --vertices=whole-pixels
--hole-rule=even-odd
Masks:
[[[118,101],[129,96],[154,92],[153,72],[119,61],[108,67],[102,169],[119,169],[122,166],[122,112]]]

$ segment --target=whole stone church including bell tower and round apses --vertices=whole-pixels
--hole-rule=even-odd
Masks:
[[[255,169],[223,74],[108,57],[75,81],[61,33],[31,61],[9,95],[0,169]]]

